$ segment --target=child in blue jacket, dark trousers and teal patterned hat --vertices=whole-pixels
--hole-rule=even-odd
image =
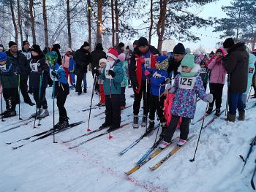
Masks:
[[[64,107],[67,95],[69,94],[69,84],[67,82],[66,72],[57,64],[58,55],[55,51],[46,54],[46,64],[50,66],[50,74],[55,82],[55,91],[57,98],[57,106],[59,109],[59,123],[55,125],[55,128],[65,128],[69,125],[69,118],[67,117],[67,111]]]

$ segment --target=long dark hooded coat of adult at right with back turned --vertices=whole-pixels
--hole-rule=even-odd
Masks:
[[[229,74],[230,93],[244,93],[247,88],[249,54],[244,43],[238,42],[227,51],[223,59],[225,69]]]

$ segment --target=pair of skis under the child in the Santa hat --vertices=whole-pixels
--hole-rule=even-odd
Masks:
[[[131,122],[129,122],[129,123],[131,123]],[[123,128],[124,126],[129,125],[129,123],[124,123],[124,124],[121,125],[119,128]],[[74,149],[74,148],[79,147],[80,145],[83,145],[83,144],[85,144],[86,142],[89,142],[89,141],[91,141],[91,140],[93,140],[93,139],[96,139],[96,138],[98,138],[98,137],[102,137],[103,135],[106,135],[106,134],[110,134],[110,132],[112,133],[113,131],[116,131],[116,130],[118,130],[119,128],[116,128],[116,129],[113,129],[113,130],[108,129],[108,130],[106,130],[105,132],[103,132],[103,133],[101,133],[101,134],[97,134],[96,136],[91,137],[90,139],[87,139],[87,140],[85,140],[85,141],[83,141],[83,142],[78,143],[77,145],[73,145],[72,147],[69,147],[69,149]],[[95,133],[95,132],[101,131],[101,130],[103,130],[103,129],[105,129],[105,128],[98,128],[97,130],[94,130],[94,131],[92,131],[92,132]],[[79,137],[76,137],[76,138],[74,138],[74,139],[70,139],[69,141],[66,141],[66,143],[67,143],[67,142],[74,141],[75,139],[79,139],[79,138],[81,138],[81,137],[84,137],[84,136],[86,136],[86,135],[88,135],[88,134],[92,134],[92,133],[83,134],[83,135],[81,135],[81,136],[79,136]]]

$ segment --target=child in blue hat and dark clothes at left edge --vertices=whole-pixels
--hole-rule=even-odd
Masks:
[[[6,103],[6,111],[1,114],[2,118],[10,118],[16,115],[15,108],[19,102],[16,70],[15,65],[7,61],[7,54],[0,52],[0,82]]]

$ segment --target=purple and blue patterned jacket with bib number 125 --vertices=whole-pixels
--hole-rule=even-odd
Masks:
[[[199,70],[200,66],[196,65],[196,67],[192,69],[192,72],[198,72]],[[184,83],[184,85],[181,85],[182,83]],[[189,89],[188,86],[190,84],[192,84],[191,89]],[[181,77],[181,74],[178,74],[174,79],[173,87],[176,88],[176,91],[171,113],[184,118],[194,118],[197,96],[202,100],[206,96],[201,77],[198,74],[194,77]]]

